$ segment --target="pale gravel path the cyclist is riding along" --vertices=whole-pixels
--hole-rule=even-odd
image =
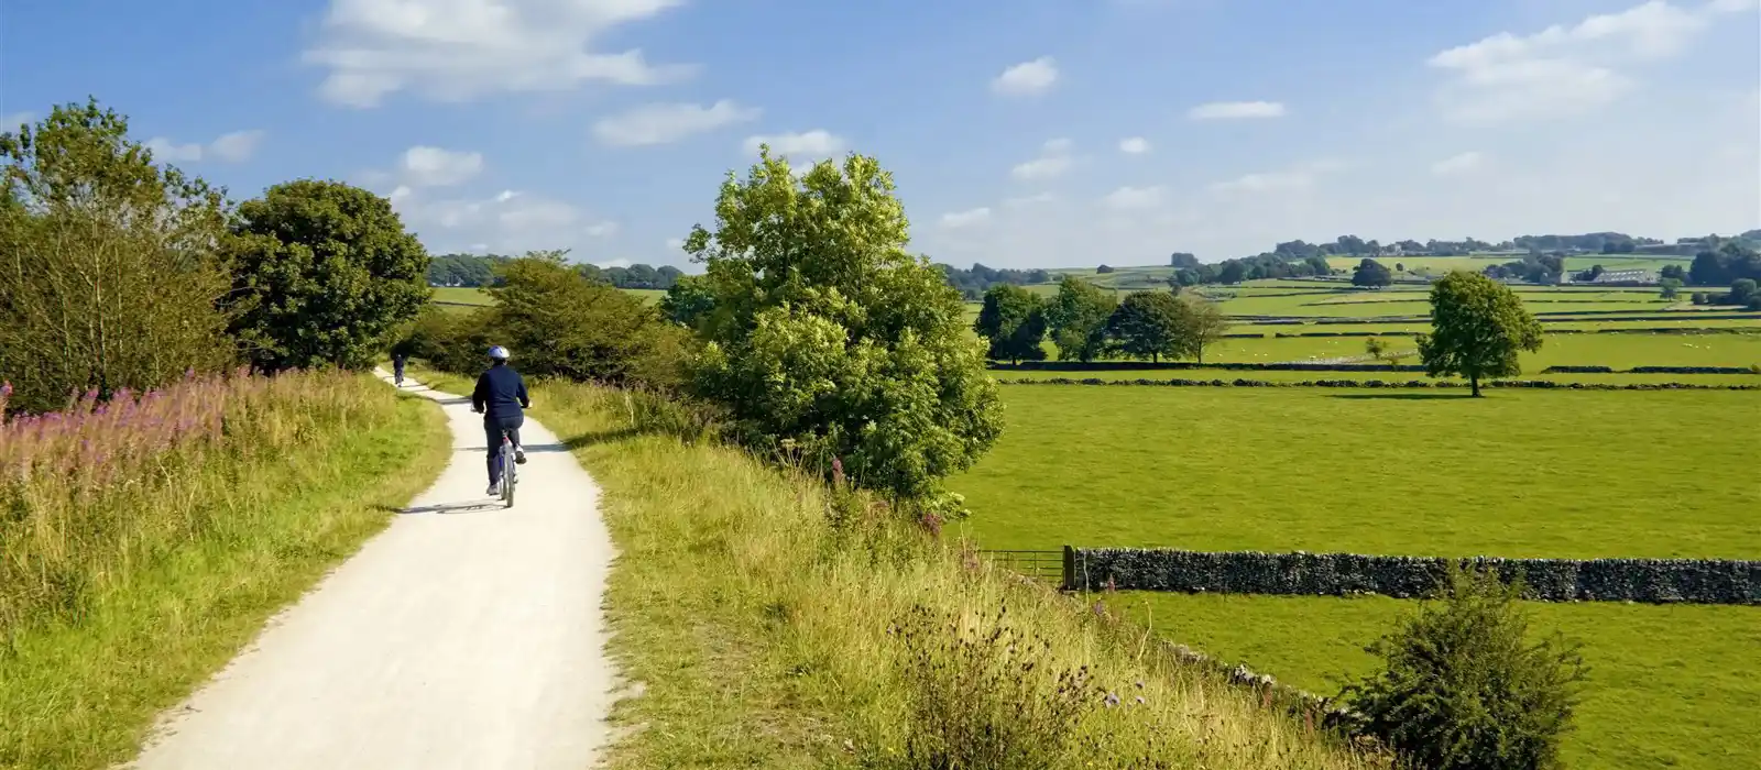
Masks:
[[[486,498],[481,417],[435,485],[185,705],[141,770],[581,770],[616,677],[601,615],[615,548],[599,487],[527,420],[516,506]]]

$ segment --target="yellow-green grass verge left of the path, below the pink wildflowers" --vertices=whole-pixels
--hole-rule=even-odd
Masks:
[[[83,556],[90,564],[72,568],[93,577],[83,578],[76,612],[37,612],[7,628],[0,766],[102,768],[129,759],[160,710],[224,666],[276,608],[444,468],[451,441],[426,401],[366,376],[313,385],[328,392],[271,394],[250,403],[250,417],[229,417],[234,425],[275,418],[280,439],[271,450],[227,448],[222,439],[201,462],[160,461],[169,483],[127,492],[129,520],[162,534],[153,548],[63,554]],[[326,399],[347,399],[349,418],[306,413]]]

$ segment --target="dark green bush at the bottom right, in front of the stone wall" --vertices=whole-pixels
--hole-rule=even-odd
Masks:
[[[1382,670],[1345,687],[1361,730],[1426,770],[1558,766],[1585,666],[1529,640],[1522,580],[1458,566],[1435,601],[1367,647]]]

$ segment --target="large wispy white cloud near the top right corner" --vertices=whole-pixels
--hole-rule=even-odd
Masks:
[[[1532,35],[1500,32],[1437,53],[1426,63],[1449,76],[1437,102],[1456,121],[1511,123],[1587,113],[1634,88],[1636,77],[1627,70],[1680,54],[1713,16],[1752,5],[1715,0],[1689,11],[1650,0]]]

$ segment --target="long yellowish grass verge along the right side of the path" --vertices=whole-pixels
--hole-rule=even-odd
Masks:
[[[1141,633],[880,506],[680,439],[689,420],[673,410],[534,389],[534,417],[602,485],[622,550],[613,652],[645,694],[618,705],[632,730],[609,766],[947,766],[925,758],[998,735],[1021,752],[970,766],[1363,766]]]

